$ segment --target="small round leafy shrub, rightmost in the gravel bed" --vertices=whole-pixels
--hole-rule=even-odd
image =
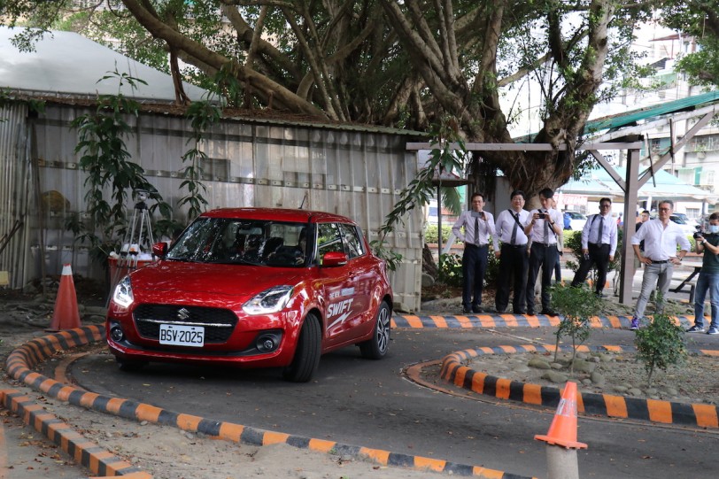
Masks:
[[[654,368],[666,371],[669,365],[681,365],[686,359],[684,328],[675,324],[669,314],[654,314],[653,321],[635,333],[637,357],[644,362],[649,384],[652,383]]]

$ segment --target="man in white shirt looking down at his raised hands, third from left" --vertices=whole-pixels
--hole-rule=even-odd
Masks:
[[[549,290],[552,287],[554,264],[557,262],[557,237],[561,235],[564,218],[561,212],[551,207],[554,191],[549,188],[539,191],[541,208],[530,212],[530,224],[524,233],[530,236],[530,272],[527,275],[527,314],[534,314],[534,285],[537,274],[542,269],[542,311],[540,314],[556,316],[550,305],[552,298]]]

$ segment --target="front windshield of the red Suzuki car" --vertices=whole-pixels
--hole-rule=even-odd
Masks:
[[[307,243],[306,223],[199,218],[167,251],[165,259],[305,267],[309,259]]]

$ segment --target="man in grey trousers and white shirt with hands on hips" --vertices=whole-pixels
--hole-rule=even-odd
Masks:
[[[691,248],[684,231],[669,216],[674,211],[674,202],[665,199],[658,206],[659,218],[646,221],[631,238],[631,247],[639,262],[645,265],[642,276],[642,291],[637,299],[634,317],[630,329],[639,328],[639,320],[644,317],[646,303],[653,290],[659,289],[661,297],[656,301],[656,312],[664,310],[664,299],[669,291],[674,265],[681,263]],[[644,251],[639,250],[639,243],[644,240]],[[676,245],[681,251],[676,253]]]

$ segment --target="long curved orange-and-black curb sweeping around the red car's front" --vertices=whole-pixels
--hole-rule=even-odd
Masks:
[[[382,466],[406,467],[416,470],[445,472],[452,475],[474,476],[486,479],[529,479],[503,471],[480,466],[469,466],[446,460],[436,460],[409,454],[370,449],[352,444],[336,443],[311,437],[255,429],[231,422],[214,421],[184,413],[174,413],[155,406],[138,403],[124,398],[112,398],[80,390],[30,370],[39,362],[56,352],[104,340],[104,326],[87,326],[60,331],[49,336],[35,338],[11,352],[7,359],[8,373],[18,381],[25,382],[34,390],[42,391],[53,398],[82,406],[100,413],[110,413],[134,421],[148,421],[172,426],[182,430],[202,433],[208,437],[250,444],[288,444],[300,449],[330,452],[340,455],[373,460]],[[39,406],[38,406],[39,407]],[[68,452],[69,453],[69,452]],[[92,456],[94,452],[89,451]],[[97,456],[97,454],[95,454]],[[100,458],[95,457],[93,461]],[[84,463],[83,463],[84,464]]]

